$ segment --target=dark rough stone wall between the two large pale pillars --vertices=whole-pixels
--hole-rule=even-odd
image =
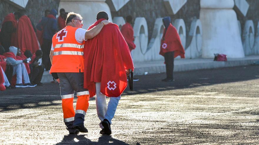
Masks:
[[[186,25],[187,34],[193,19],[199,18],[200,0],[189,0],[175,15],[169,15],[162,0],[130,0],[119,11],[112,12],[112,17],[126,17],[132,15],[133,19],[144,17],[147,21],[148,38],[152,37],[152,31],[157,18],[170,16],[171,20],[183,19]]]

